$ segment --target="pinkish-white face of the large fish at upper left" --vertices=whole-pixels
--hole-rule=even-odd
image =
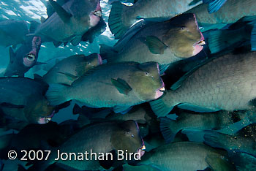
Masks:
[[[95,7],[94,11],[91,11],[89,15],[91,27],[97,26],[102,17],[102,8],[100,7],[99,0],[91,0],[91,3],[95,4],[95,2],[97,2],[97,7]]]

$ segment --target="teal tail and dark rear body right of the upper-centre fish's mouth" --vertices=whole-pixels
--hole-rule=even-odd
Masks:
[[[217,30],[211,31],[208,37],[208,47],[211,53],[218,53],[229,47],[235,48],[242,42],[249,40],[245,27],[237,30]]]

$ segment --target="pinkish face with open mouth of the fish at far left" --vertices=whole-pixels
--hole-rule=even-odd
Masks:
[[[38,53],[41,47],[41,38],[34,37],[31,44],[31,50],[23,57],[23,65],[29,68],[37,63]]]

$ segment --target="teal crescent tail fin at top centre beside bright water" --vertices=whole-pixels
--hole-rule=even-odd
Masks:
[[[125,6],[118,1],[113,2],[112,4],[108,25],[112,34],[115,35],[115,39],[120,39],[129,28],[129,26],[124,25],[122,20],[122,12],[124,8],[128,8],[128,6]]]

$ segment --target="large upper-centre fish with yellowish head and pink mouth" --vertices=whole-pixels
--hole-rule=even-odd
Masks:
[[[136,24],[116,43],[114,53],[102,47],[101,54],[110,53],[108,62],[156,61],[167,65],[200,53],[203,40],[195,15],[178,15],[165,22]]]

